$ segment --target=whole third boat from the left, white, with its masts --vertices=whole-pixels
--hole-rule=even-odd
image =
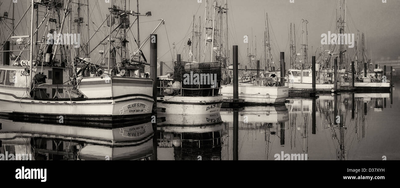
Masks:
[[[260,61],[256,60],[257,55],[252,54],[251,49],[248,48],[248,66],[250,68],[256,68],[257,72],[254,73],[254,69],[248,70],[247,65],[245,65],[244,70],[239,71],[238,97],[241,100],[240,102],[244,105],[280,105],[284,104],[289,96],[289,87],[284,83],[284,79],[280,77],[280,71],[275,71],[275,63],[272,60],[268,14],[265,26],[265,70],[260,72]],[[236,55],[237,54],[234,52],[234,56]],[[270,69],[270,71],[267,69]],[[231,71],[230,74],[233,75],[233,71]],[[223,85],[221,94],[224,95],[225,102],[235,102],[233,84]]]

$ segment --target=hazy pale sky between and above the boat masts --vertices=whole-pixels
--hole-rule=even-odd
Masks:
[[[10,1],[1,0],[4,2],[1,7],[1,14],[4,10],[8,10]],[[19,0],[28,1],[28,0]],[[189,36],[185,37],[188,30],[191,31],[192,16],[196,14],[196,18],[202,16],[204,20],[204,2],[198,3],[198,0],[140,0],[140,12],[152,12],[151,17],[141,17],[141,38],[145,38],[158,24],[157,21],[163,18],[165,20],[165,27],[161,26],[158,30],[158,57],[160,61],[171,61],[170,49],[168,39],[172,43],[177,44],[179,48],[182,40],[186,44]],[[243,43],[243,36],[248,35],[250,42],[252,35],[257,36],[257,51],[258,59],[262,57],[262,40],[264,34],[264,12],[268,12],[270,19],[271,39],[273,40],[272,48],[275,52],[284,51],[288,55],[290,23],[296,24],[296,35],[300,37],[301,28],[300,20],[308,20],[308,44],[310,54],[314,54],[317,47],[321,46],[321,34],[327,33],[329,30],[334,31],[334,20],[336,19],[335,9],[338,0],[228,0],[229,10],[229,23],[230,33],[230,48],[232,45],[239,45],[240,57],[246,57],[247,44]],[[90,0],[92,5],[96,4],[95,0]],[[136,10],[136,0],[130,0],[131,10]],[[101,18],[105,18],[110,4],[105,3],[104,0],[99,0],[98,5],[101,9],[92,9],[92,19],[96,25],[102,23]],[[336,7],[335,7],[336,5]],[[379,60],[381,57],[391,57],[397,59],[400,56],[400,1],[387,0],[382,3],[382,0],[348,0],[348,10],[351,14],[348,18],[350,33],[356,33],[356,29],[360,32],[366,33],[368,53],[372,50],[372,57],[374,60]],[[24,6],[26,8],[26,6]],[[20,14],[23,14],[20,8]],[[332,17],[333,16],[333,17]],[[333,18],[333,20],[332,20]],[[354,20],[354,24],[353,24]],[[95,26],[90,28],[95,29]],[[168,33],[168,38],[166,35]],[[253,30],[253,34],[252,34]],[[136,35],[136,28],[133,29]],[[2,35],[2,34],[0,34]],[[101,35],[102,36],[102,35]],[[100,38],[100,37],[99,37]],[[94,44],[91,44],[94,46]],[[180,52],[182,53],[182,48]],[[144,53],[147,53],[149,47],[145,47]],[[311,50],[313,49],[313,51]],[[166,54],[167,53],[167,54]],[[166,55],[164,55],[166,54]],[[164,56],[163,56],[164,55]],[[318,52],[317,52],[318,56]],[[276,55],[278,57],[278,55]],[[286,57],[288,59],[288,57]]]

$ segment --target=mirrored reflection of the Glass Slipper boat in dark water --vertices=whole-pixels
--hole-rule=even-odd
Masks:
[[[1,154],[32,154],[32,160],[140,160],[153,155],[149,120],[113,129],[0,119]]]

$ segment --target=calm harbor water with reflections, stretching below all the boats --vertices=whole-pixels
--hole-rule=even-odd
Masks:
[[[308,160],[400,160],[396,87],[392,95],[288,100],[280,107],[159,115],[157,126],[149,119],[116,129],[0,119],[0,154],[30,154],[33,160],[275,160],[283,152],[307,154]]]

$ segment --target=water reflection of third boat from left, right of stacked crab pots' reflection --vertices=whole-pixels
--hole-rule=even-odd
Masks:
[[[285,130],[289,128],[286,105],[224,109],[221,117],[226,128],[223,160],[267,160],[276,140],[279,145],[285,144]],[[258,158],[258,154],[265,158]]]

